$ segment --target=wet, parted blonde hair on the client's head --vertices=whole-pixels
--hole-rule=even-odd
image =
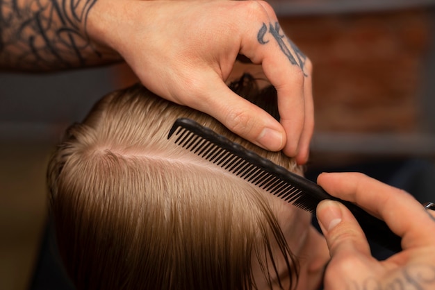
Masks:
[[[278,256],[294,286],[297,265],[268,194],[168,141],[179,117],[299,170],[141,85],[108,94],[67,130],[47,173],[59,252],[76,287],[254,289],[258,259],[272,288]]]

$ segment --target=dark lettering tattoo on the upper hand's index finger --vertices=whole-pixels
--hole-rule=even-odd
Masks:
[[[270,42],[269,37],[266,36],[268,33],[272,35],[273,39],[279,45],[279,49],[281,49],[282,53],[284,53],[290,63],[300,67],[304,72],[304,76],[308,76],[305,71],[306,56],[288,37],[286,37],[286,35],[284,35],[278,22],[275,22],[275,24],[270,23],[269,27],[263,23],[257,33],[258,43],[268,44]]]

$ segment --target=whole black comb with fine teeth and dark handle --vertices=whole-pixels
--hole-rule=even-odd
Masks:
[[[353,203],[329,195],[315,182],[274,164],[191,119],[177,119],[167,139],[172,135],[176,138],[175,144],[303,210],[315,214],[320,201],[340,201],[354,214],[369,241],[396,253],[402,249],[400,237],[391,232],[384,221]]]

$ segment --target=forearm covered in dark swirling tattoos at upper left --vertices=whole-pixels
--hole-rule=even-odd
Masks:
[[[0,0],[0,67],[83,67],[101,54],[85,31],[97,0]]]

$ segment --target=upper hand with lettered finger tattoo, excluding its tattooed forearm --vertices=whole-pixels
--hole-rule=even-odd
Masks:
[[[268,3],[99,0],[88,33],[118,51],[156,94],[306,162],[313,132],[311,62],[284,35]],[[261,64],[276,87],[281,123],[224,83],[239,53]]]

